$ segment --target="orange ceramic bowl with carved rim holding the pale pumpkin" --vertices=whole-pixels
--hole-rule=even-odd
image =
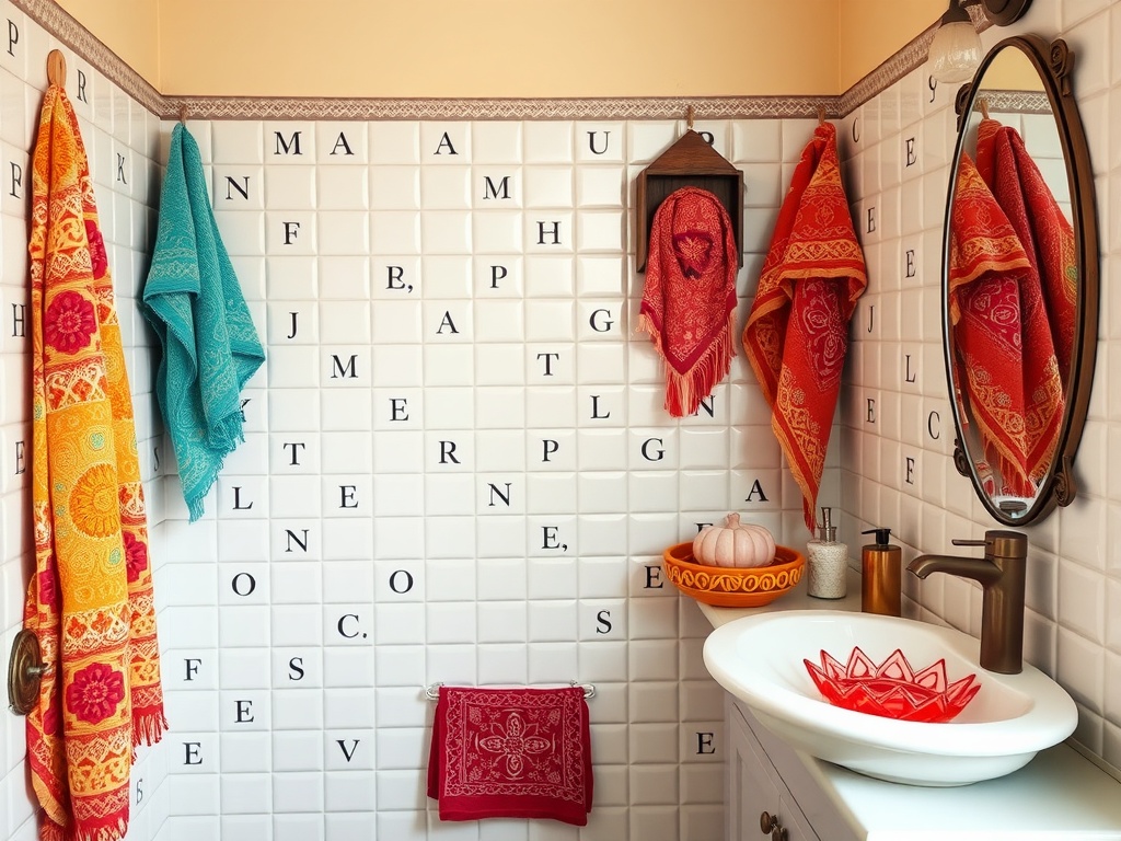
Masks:
[[[686,595],[719,608],[759,608],[789,592],[806,567],[806,558],[786,546],[775,547],[767,566],[708,566],[693,560],[693,544],[679,543],[663,553],[669,581]]]

